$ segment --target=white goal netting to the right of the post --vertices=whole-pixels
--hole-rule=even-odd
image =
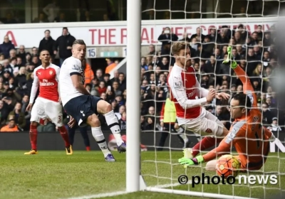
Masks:
[[[276,48],[276,16],[281,16],[285,1],[190,1],[169,0],[142,1],[142,19],[153,20],[154,35],[158,43],[150,45],[150,51],[145,53],[146,63],[142,63],[142,144],[144,139],[152,138],[153,144],[148,146],[155,149],[155,156],[142,155],[142,176],[148,190],[165,193],[192,194],[206,198],[278,198],[285,190],[283,141],[285,139],[284,111],[278,104],[283,100],[276,98],[280,86],[274,84],[276,75],[280,74],[277,63],[280,49]],[[160,19],[165,19],[161,21]],[[177,20],[174,20],[177,19]],[[157,23],[155,22],[157,21]],[[171,36],[164,30],[170,28]],[[201,31],[202,30],[202,31]],[[202,35],[199,36],[199,32]],[[167,35],[165,37],[165,35]],[[281,33],[282,35],[282,33]],[[187,36],[187,37],[185,37]],[[182,157],[183,141],[189,140],[192,147],[201,140],[197,134],[190,131],[179,132],[179,127],[163,124],[161,111],[167,99],[167,74],[175,63],[170,53],[169,41],[187,41],[191,46],[192,66],[197,73],[197,79],[202,87],[227,92],[231,97],[242,91],[242,82],[223,65],[227,58],[227,45],[234,47],[234,60],[247,72],[257,93],[258,106],[262,112],[262,124],[274,131],[282,143],[271,143],[271,153],[265,165],[258,172],[245,175],[278,176],[276,185],[258,183],[246,185],[214,185],[212,183],[196,185],[192,188],[191,176],[216,175],[214,171],[205,171],[202,166],[180,166],[178,158]],[[162,45],[161,45],[162,44]],[[282,73],[281,73],[282,74]],[[282,76],[282,75],[281,75]],[[278,82],[278,81],[277,81]],[[279,83],[281,80],[279,79]],[[280,85],[280,84],[279,84]],[[281,84],[282,85],[282,84]],[[214,100],[205,107],[216,115],[229,129],[229,102]],[[163,114],[166,117],[167,114]],[[171,130],[170,130],[171,129]],[[184,136],[187,134],[187,138]],[[168,138],[166,138],[168,136]],[[166,140],[166,141],[165,141]],[[217,146],[217,144],[216,144]],[[213,148],[212,148],[213,149]],[[209,149],[207,150],[209,151]],[[232,151],[232,153],[236,153]],[[178,176],[186,174],[190,183],[180,185]],[[165,188],[161,190],[160,188]],[[183,192],[181,190],[185,190]],[[193,193],[192,193],[193,192]],[[196,193],[197,192],[197,193]],[[202,194],[201,194],[202,193]],[[209,195],[207,195],[209,193]],[[216,195],[215,195],[216,194]],[[217,195],[218,194],[218,195]],[[284,195],[283,195],[284,196]]]

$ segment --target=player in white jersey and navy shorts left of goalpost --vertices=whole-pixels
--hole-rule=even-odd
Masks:
[[[92,135],[105,156],[105,161],[115,161],[109,151],[100,127],[98,114],[103,114],[108,127],[115,136],[119,152],[125,152],[126,145],[120,135],[120,125],[111,105],[99,97],[90,95],[84,87],[84,70],[81,66],[86,57],[86,44],[76,40],[72,46],[72,56],[64,60],[59,75],[60,95],[66,113],[71,116],[69,124],[78,122],[79,127],[90,125]]]

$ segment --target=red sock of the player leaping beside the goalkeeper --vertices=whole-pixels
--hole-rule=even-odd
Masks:
[[[216,139],[217,139],[217,142],[216,142]],[[197,154],[199,154],[200,151],[203,151],[203,150],[208,149],[212,146],[215,146],[216,144],[218,145],[221,141],[222,141],[222,139],[219,139],[216,137],[210,137],[210,136],[204,137],[194,147],[192,147],[192,156],[193,157],[197,156]]]

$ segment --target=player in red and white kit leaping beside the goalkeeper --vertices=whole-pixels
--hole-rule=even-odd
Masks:
[[[190,48],[184,41],[172,45],[172,55],[175,56],[175,65],[168,75],[171,100],[175,102],[177,121],[184,127],[201,136],[206,136],[192,149],[184,149],[185,157],[192,158],[199,151],[214,146],[222,141],[229,132],[222,122],[202,106],[217,99],[229,99],[229,95],[215,90],[202,88],[196,78],[195,69],[190,63]],[[216,138],[221,137],[221,139]]]

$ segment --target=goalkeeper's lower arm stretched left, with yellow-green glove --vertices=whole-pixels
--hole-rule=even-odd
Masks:
[[[234,139],[240,139],[239,136],[245,134],[245,131],[247,131],[246,128],[244,128],[246,122],[237,122],[237,124],[234,124],[232,129],[229,130],[229,134],[227,134],[226,137],[219,143],[219,146],[217,148],[213,149],[212,151],[209,151],[207,154],[204,154],[203,156],[197,156],[195,158],[180,158],[179,163],[182,165],[196,165],[198,163],[204,163],[207,161],[212,161],[213,159],[222,156],[223,154],[227,154],[230,149],[232,148],[232,143],[234,142]]]

